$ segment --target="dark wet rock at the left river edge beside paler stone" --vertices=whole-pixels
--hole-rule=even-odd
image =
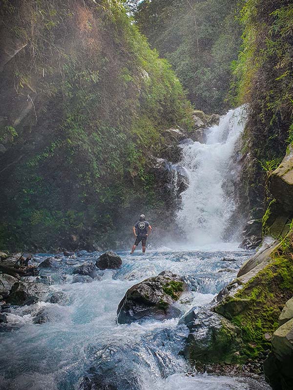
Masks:
[[[43,300],[48,292],[49,288],[45,284],[18,281],[13,285],[7,302],[12,305],[31,305]]]

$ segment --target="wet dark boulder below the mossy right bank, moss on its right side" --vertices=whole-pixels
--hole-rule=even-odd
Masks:
[[[185,357],[200,363],[235,363],[241,351],[240,329],[209,309],[191,309],[181,320],[189,334]]]

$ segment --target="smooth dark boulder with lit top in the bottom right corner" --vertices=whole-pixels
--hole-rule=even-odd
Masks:
[[[272,336],[272,352],[264,362],[267,382],[273,390],[293,389],[293,319]]]

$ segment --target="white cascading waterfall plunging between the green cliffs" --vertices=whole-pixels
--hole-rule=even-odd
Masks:
[[[182,165],[189,186],[182,194],[182,207],[177,217],[190,244],[202,246],[223,241],[235,210],[235,200],[225,194],[223,184],[244,124],[244,107],[230,110],[218,126],[207,130],[205,144],[194,142],[184,146]]]

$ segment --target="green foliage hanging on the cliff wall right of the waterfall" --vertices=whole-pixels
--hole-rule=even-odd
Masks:
[[[249,103],[243,181],[255,203],[265,197],[266,173],[293,142],[292,1],[246,1],[240,21],[243,45],[233,63],[232,96],[235,105]]]

